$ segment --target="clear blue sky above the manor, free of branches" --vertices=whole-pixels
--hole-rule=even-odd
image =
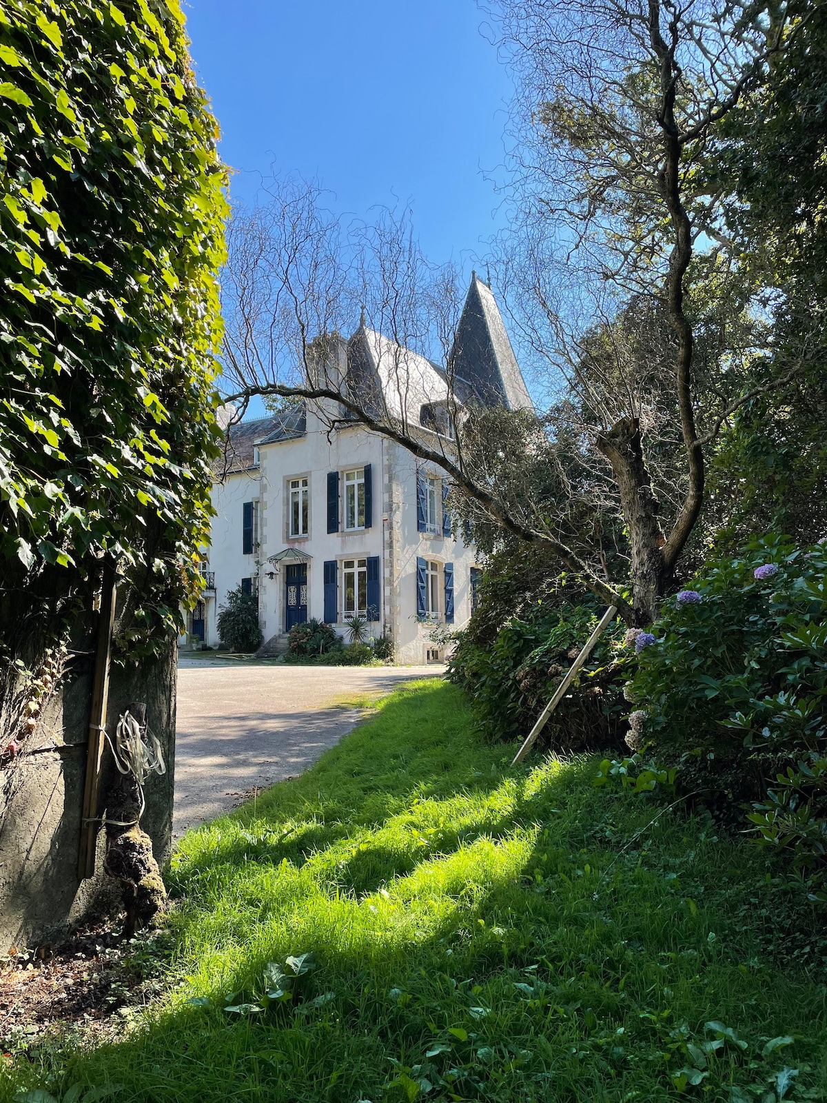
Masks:
[[[433,260],[485,251],[502,217],[484,171],[503,160],[511,83],[474,0],[189,0],[184,11],[234,196],[251,196],[275,162],[318,178],[344,213],[410,202]]]

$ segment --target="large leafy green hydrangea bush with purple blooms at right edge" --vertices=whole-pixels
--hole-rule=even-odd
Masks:
[[[666,602],[631,696],[680,788],[802,865],[827,843],[827,548],[752,542]],[[648,639],[648,638],[647,638]]]

